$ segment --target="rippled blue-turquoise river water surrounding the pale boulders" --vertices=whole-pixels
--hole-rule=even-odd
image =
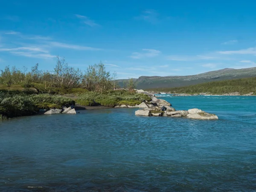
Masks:
[[[0,122],[0,191],[255,191],[256,97],[163,97],[205,121],[135,109]]]

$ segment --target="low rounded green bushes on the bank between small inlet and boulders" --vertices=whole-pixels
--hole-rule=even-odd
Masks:
[[[76,100],[80,105],[114,107],[116,105],[139,105],[141,102],[150,101],[151,98],[142,93],[130,92],[128,90],[110,90],[100,94],[87,92],[79,95]]]

